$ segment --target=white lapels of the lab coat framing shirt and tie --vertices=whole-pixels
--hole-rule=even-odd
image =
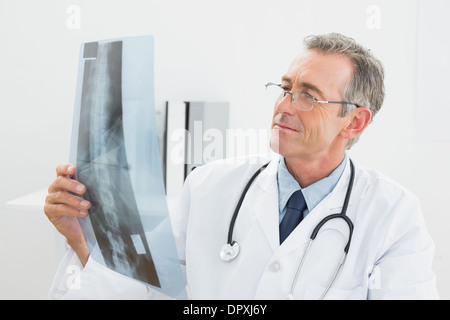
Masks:
[[[344,172],[333,191],[319,202],[280,246],[278,189],[276,182],[280,157],[280,155],[273,157],[267,169],[256,180],[256,184],[263,189],[264,194],[261,195],[260,201],[257,201],[253,206],[254,214],[261,225],[270,247],[275,253],[273,259],[306,245],[310,239],[312,230],[323,218],[329,214],[340,212],[350,179],[350,161],[347,160]],[[351,204],[352,197],[350,198],[349,206]]]

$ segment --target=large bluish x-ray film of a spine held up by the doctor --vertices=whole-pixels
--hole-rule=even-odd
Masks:
[[[151,36],[81,45],[70,161],[92,204],[79,219],[91,257],[178,299],[154,106]]]

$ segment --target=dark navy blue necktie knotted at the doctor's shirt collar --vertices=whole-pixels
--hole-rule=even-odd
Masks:
[[[302,221],[303,210],[305,209],[306,202],[301,190],[295,191],[289,198],[286,214],[280,223],[280,244],[283,243],[292,230]]]

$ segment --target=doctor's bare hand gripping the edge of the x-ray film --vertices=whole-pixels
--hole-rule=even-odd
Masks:
[[[66,237],[67,243],[85,265],[89,258],[89,249],[77,218],[86,217],[91,204],[74,195],[83,195],[86,192],[84,185],[69,177],[75,174],[75,171],[75,166],[70,163],[58,165],[56,179],[48,188],[44,212],[56,229]]]

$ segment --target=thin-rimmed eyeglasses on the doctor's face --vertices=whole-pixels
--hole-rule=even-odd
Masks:
[[[338,103],[338,104],[348,104],[348,105],[354,105],[357,108],[360,108],[355,103],[348,102],[348,101],[319,101],[316,100],[312,95],[304,92],[294,92],[291,93],[289,91],[284,90],[281,87],[281,84],[276,84],[272,82],[268,82],[266,84],[266,92],[267,95],[275,100],[275,102],[278,104],[283,100],[284,97],[286,97],[287,94],[291,95],[292,99],[292,106],[295,109],[302,110],[302,111],[311,111],[314,107],[314,103]]]

